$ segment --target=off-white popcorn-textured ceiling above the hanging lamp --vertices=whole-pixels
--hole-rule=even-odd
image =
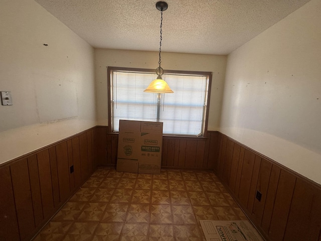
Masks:
[[[94,48],[158,51],[150,0],[36,0]],[[162,51],[227,55],[309,0],[166,0]]]

